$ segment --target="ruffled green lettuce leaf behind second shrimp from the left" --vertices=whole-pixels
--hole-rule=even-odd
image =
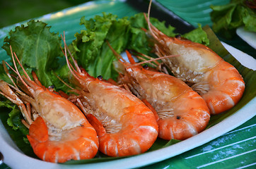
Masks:
[[[105,41],[110,42],[117,52],[124,50],[129,36],[129,20],[103,13],[103,16],[96,15],[90,20],[81,18],[80,24],[85,25],[86,30],[76,33],[76,40],[72,42],[78,63],[94,77],[102,75],[105,79],[115,78],[117,72],[112,67],[115,56]]]

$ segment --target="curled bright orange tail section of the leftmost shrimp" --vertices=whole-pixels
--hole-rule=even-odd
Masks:
[[[93,132],[93,135],[91,135]],[[66,130],[61,140],[50,140],[47,125],[38,117],[31,125],[28,141],[34,153],[44,161],[64,163],[71,159],[93,158],[98,151],[98,137],[88,123]],[[93,136],[93,137],[91,137]]]

